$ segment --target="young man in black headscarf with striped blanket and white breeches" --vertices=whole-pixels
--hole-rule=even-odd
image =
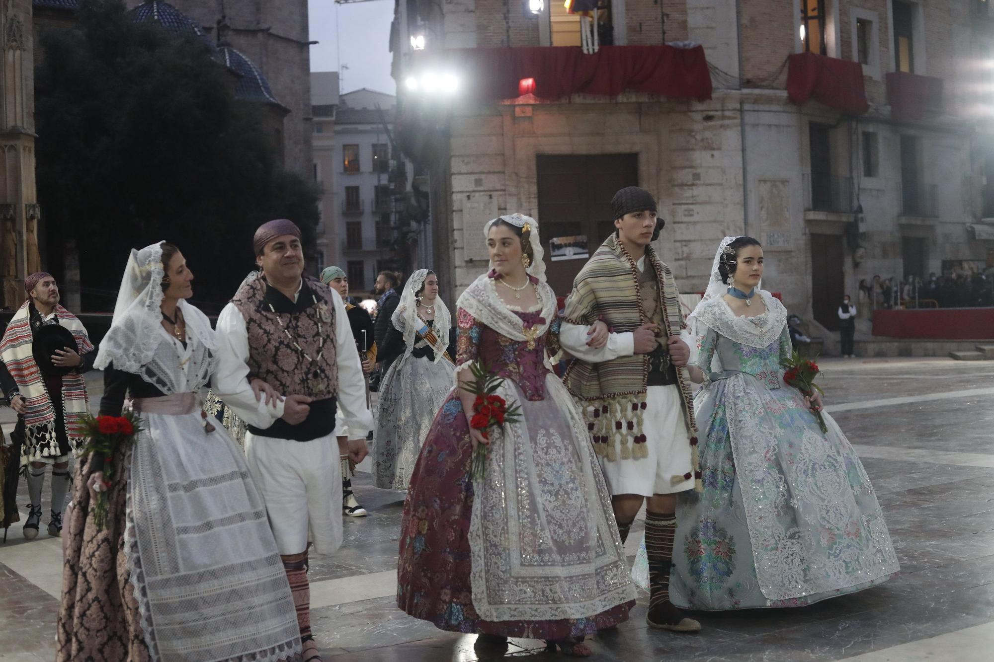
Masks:
[[[577,358],[565,382],[587,418],[622,543],[648,499],[649,625],[701,629],[669,597],[676,494],[700,486],[697,431],[684,366],[690,348],[679,293],[651,243],[662,229],[652,195],[628,187],[611,200],[615,233],[580,269],[561,343]]]

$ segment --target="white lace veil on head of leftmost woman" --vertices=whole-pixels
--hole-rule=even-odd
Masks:
[[[162,244],[156,242],[141,250],[131,249],[124,277],[117,292],[114,316],[110,329],[100,341],[99,352],[93,367],[105,369],[111,362],[116,370],[140,374],[142,366],[148,364],[155,350],[165,339],[159,331],[162,324]],[[187,304],[180,301],[187,313]],[[196,310],[196,309],[194,309]],[[197,313],[200,313],[198,310]],[[196,336],[207,349],[214,350],[214,332],[207,318],[200,314],[184,314],[187,335]]]

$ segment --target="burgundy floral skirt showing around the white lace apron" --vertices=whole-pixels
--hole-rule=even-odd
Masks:
[[[551,403],[525,403],[554,407]],[[487,621],[473,607],[468,533],[473,508],[472,447],[462,405],[453,393],[431,426],[414,465],[404,504],[398,563],[398,606],[452,632],[532,639],[592,634],[628,619],[634,601],[585,618]]]

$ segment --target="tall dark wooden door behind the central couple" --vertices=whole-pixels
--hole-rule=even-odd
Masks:
[[[638,155],[540,154],[536,159],[546,275],[553,291],[566,296],[586,260],[552,261],[549,240],[585,235],[590,253],[600,246],[614,232],[611,198],[618,189],[638,186]]]

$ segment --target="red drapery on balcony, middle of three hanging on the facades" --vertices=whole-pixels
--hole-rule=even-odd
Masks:
[[[863,114],[870,109],[863,85],[863,65],[814,53],[790,56],[787,96],[797,105],[813,98],[852,115]]]

